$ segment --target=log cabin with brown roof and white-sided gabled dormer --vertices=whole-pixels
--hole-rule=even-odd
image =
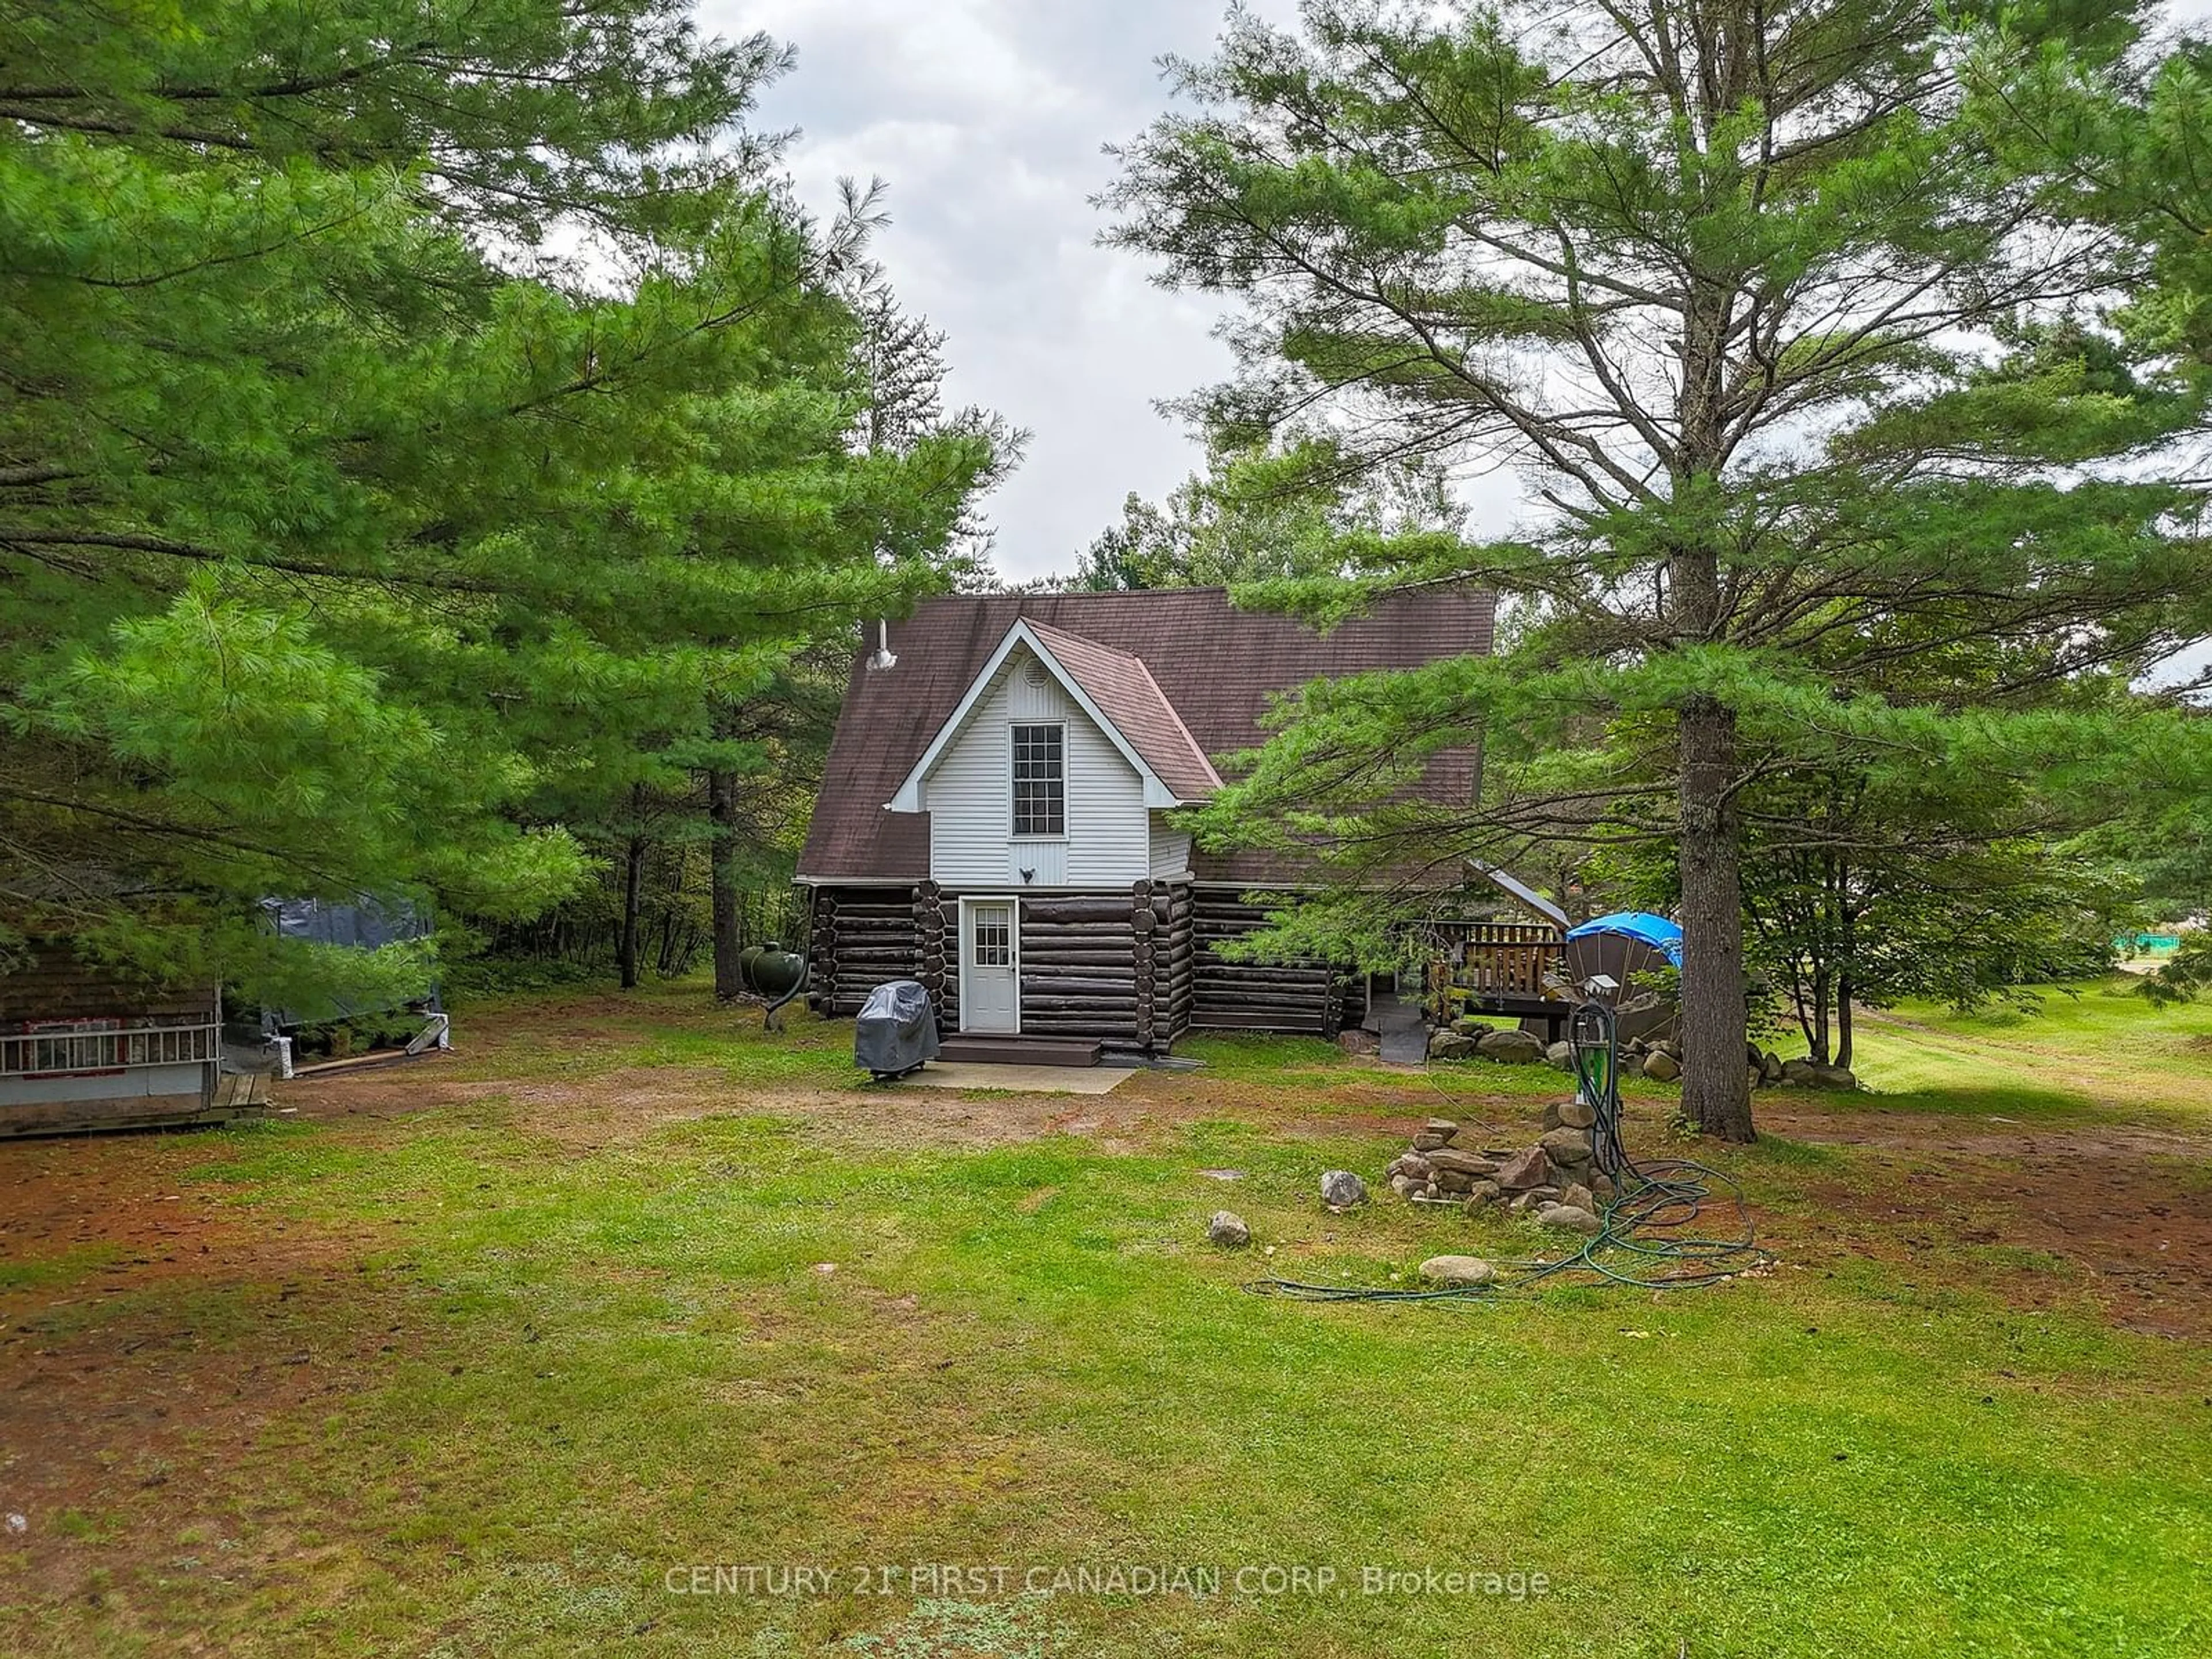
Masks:
[[[856,653],[799,883],[810,1004],[858,1013],[920,980],[949,1055],[1082,1064],[1188,1031],[1336,1035],[1365,982],[1334,962],[1234,962],[1254,889],[1314,872],[1208,852],[1177,807],[1221,787],[1270,703],[1316,677],[1486,653],[1493,597],[1398,597],[1332,633],[1223,588],[929,599]],[[1473,757],[1422,792],[1471,796]]]

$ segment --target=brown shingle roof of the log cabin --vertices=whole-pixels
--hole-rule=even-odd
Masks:
[[[1102,648],[1088,670],[1062,657],[1071,675],[1106,675],[1108,657],[1137,659],[1199,752],[1230,754],[1259,743],[1270,699],[1307,679],[1486,653],[1495,599],[1471,591],[1405,595],[1327,635],[1274,613],[1237,611],[1225,588],[925,599],[911,617],[891,624],[896,668],[872,670],[867,644],[854,653],[814,823],[799,856],[801,876],[902,885],[929,874],[929,814],[885,812],[883,803],[1020,617],[1040,630],[1053,655],[1060,655],[1066,635]],[[1126,670],[1108,677],[1124,684]],[[1106,708],[1088,679],[1084,688]],[[1133,692],[1133,701],[1141,697]],[[1121,721],[1119,712],[1108,712],[1115,723]],[[1124,728],[1124,734],[1159,770],[1137,732]],[[1161,748],[1168,748],[1164,739]],[[1161,779],[1181,794],[1172,776],[1161,772]],[[1429,765],[1422,794],[1464,801],[1471,787],[1473,757],[1442,754]],[[1197,856],[1201,880],[1274,883],[1296,874],[1296,865],[1281,854]]]

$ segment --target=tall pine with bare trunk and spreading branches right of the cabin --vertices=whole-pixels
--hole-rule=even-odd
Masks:
[[[2064,27],[2132,40],[2132,7],[2093,13]],[[1540,507],[1509,542],[1413,538],[1358,584],[1495,586],[1515,650],[1312,692],[1217,827],[1321,838],[1354,874],[1451,869],[1650,801],[1648,774],[1548,737],[1652,745],[1686,1110],[1745,1139],[1741,814],[1770,757],[2042,768],[2126,741],[2106,714],[2013,717],[2004,684],[1891,703],[1814,648],[1986,644],[2059,677],[2172,650],[2212,575],[2168,533],[2194,493],[2064,469],[2157,442],[2188,398],[2066,349],[2126,259],[1993,139],[1933,7],[1303,18],[1239,13],[1177,66],[1199,111],[1124,153],[1113,239],[1243,301],[1241,374],[1201,405],[1219,431],[1513,465]],[[1396,799],[1467,743],[1480,807]]]

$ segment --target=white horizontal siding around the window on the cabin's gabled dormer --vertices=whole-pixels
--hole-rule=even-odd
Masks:
[[[929,874],[947,887],[1126,887],[1152,869],[1152,825],[1144,779],[1113,741],[1060,690],[1033,686],[1015,650],[962,730],[922,779],[929,814]],[[1066,726],[1066,841],[1013,838],[1015,719]],[[1188,845],[1188,841],[1186,841]],[[1188,854],[1186,854],[1188,863]],[[1035,872],[1029,883],[1022,869]]]

